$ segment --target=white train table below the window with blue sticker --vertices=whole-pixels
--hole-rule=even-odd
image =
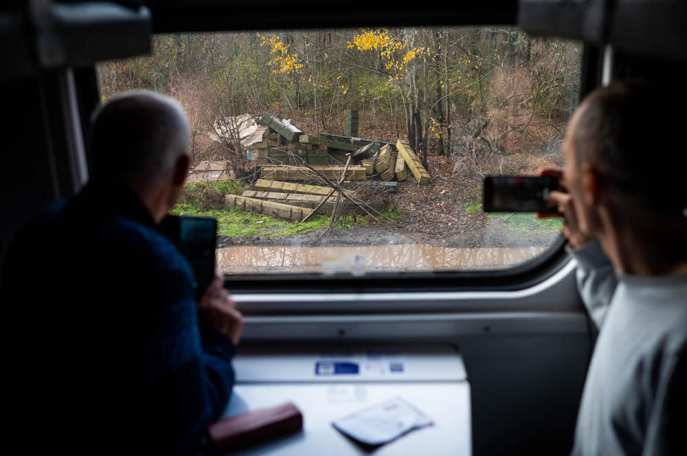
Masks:
[[[358,372],[336,374],[337,363]],[[342,352],[282,350],[236,357],[234,394],[223,416],[283,402],[303,414],[303,430],[238,455],[368,455],[331,422],[394,396],[433,420],[374,455],[470,455],[470,387],[451,347],[357,347]]]

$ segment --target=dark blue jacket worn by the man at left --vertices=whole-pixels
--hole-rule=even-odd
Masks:
[[[133,192],[51,205],[3,275],[8,374],[50,448],[188,453],[225,409],[234,345],[199,329],[190,266]]]

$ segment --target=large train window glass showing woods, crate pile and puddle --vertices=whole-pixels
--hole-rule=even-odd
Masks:
[[[97,70],[102,100],[185,106],[174,212],[217,218],[225,273],[493,271],[557,244],[559,219],[485,214],[482,181],[561,166],[581,54],[515,27],[213,32]]]

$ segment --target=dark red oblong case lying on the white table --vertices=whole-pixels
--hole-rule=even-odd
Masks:
[[[223,453],[299,431],[303,415],[286,402],[269,409],[258,409],[217,420],[207,426],[214,451]]]

